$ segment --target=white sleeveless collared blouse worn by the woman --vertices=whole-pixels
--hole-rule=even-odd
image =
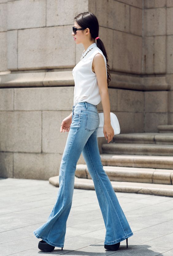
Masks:
[[[87,51],[92,47],[94,48],[87,53]],[[81,57],[80,61],[72,70],[73,78],[75,81],[73,100],[74,106],[77,103],[84,101],[94,105],[97,105],[101,102],[97,77],[96,74],[92,71],[93,58],[97,53],[102,54],[104,58],[107,76],[106,58],[103,52],[98,48],[97,44],[91,44],[86,51],[83,51],[82,56],[84,56],[86,53],[87,55],[84,58]]]

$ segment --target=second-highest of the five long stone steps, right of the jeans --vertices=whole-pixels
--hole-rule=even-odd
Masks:
[[[102,153],[173,156],[173,145],[107,143],[102,144]]]

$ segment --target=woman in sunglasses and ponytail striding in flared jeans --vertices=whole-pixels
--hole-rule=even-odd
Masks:
[[[107,54],[102,40],[98,37],[98,20],[91,12],[76,16],[72,36],[75,43],[82,43],[85,50],[81,60],[73,68],[75,81],[74,104],[71,114],[63,119],[60,132],[69,132],[63,152],[59,190],[56,203],[45,224],[33,231],[41,238],[38,248],[50,252],[56,247],[63,250],[66,222],[71,210],[74,191],[76,164],[81,153],[94,182],[94,188],[106,227],[104,248],[118,250],[120,242],[133,235],[129,223],[118,202],[110,179],[103,170],[97,130],[99,115],[97,104],[102,101],[104,112],[103,133],[108,143],[114,136],[110,123],[110,101],[107,72]],[[97,44],[95,43],[97,40]],[[128,247],[128,244],[127,244]]]

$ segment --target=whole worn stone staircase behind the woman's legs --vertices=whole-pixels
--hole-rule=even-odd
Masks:
[[[111,143],[102,145],[101,160],[113,189],[173,196],[173,132],[117,134]],[[173,130],[171,130],[173,131]],[[49,182],[59,186],[59,176]],[[75,171],[75,188],[94,189],[87,165],[79,164]]]

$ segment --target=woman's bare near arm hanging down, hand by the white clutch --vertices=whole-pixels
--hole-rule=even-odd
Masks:
[[[102,107],[104,113],[104,126],[103,133],[108,143],[114,136],[114,130],[110,123],[110,100],[108,94],[107,77],[106,77],[106,66],[102,54],[98,53],[94,56],[92,66],[97,77],[99,92],[102,100]],[[106,134],[108,136],[106,136]]]

